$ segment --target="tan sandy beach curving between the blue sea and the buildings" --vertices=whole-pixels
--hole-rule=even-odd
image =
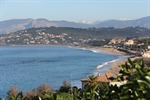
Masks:
[[[125,64],[125,62],[127,62],[128,58],[131,58],[131,60],[134,60],[136,57],[133,55],[129,55],[128,53],[125,52],[121,52],[117,49],[114,48],[103,48],[103,47],[77,47],[79,49],[86,49],[86,50],[91,50],[91,51],[95,51],[95,52],[103,52],[103,53],[107,53],[107,54],[113,54],[113,55],[118,55],[118,56],[123,56],[120,59],[116,59],[114,61],[110,61],[109,62],[109,68],[107,69],[107,71],[105,73],[112,73],[117,75],[120,71],[119,66]],[[125,57],[126,56],[126,57]],[[105,65],[99,65],[99,66],[105,66]],[[107,66],[107,65],[106,65]]]

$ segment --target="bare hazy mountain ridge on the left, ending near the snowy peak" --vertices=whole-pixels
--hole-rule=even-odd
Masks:
[[[24,30],[32,27],[75,27],[75,28],[87,28],[89,25],[82,23],[75,23],[69,21],[49,21],[47,19],[12,19],[6,21],[0,21],[0,34],[15,32],[18,30]]]

